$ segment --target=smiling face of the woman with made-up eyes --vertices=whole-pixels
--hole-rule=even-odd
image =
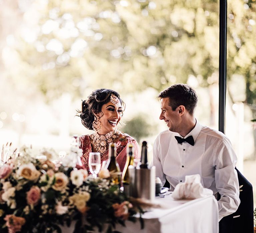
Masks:
[[[117,98],[118,99],[118,98]],[[123,107],[118,99],[117,104],[114,105],[112,102],[104,104],[101,108],[101,112],[98,116],[102,116],[99,121],[101,123],[101,129],[98,131],[99,134],[106,134],[110,131],[115,130],[118,122],[122,118]]]

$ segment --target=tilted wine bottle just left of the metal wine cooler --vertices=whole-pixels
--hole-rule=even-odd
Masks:
[[[124,188],[124,193],[129,196],[130,192],[130,179],[129,179],[129,170],[128,167],[130,165],[133,165],[133,159],[134,159],[134,155],[133,155],[133,146],[132,144],[128,145],[128,149],[127,149],[127,156],[126,156],[126,163],[124,166],[124,170],[122,173],[122,185]]]

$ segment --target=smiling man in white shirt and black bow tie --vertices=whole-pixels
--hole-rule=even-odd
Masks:
[[[173,190],[186,175],[200,174],[205,188],[219,196],[219,220],[234,213],[240,203],[235,165],[237,158],[225,134],[201,125],[194,116],[197,95],[185,84],[162,91],[160,119],[169,129],[157,136],[153,147],[156,176]]]

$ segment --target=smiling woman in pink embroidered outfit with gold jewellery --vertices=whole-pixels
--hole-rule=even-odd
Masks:
[[[115,142],[116,161],[123,171],[126,162],[126,150],[129,143],[133,144],[134,156],[138,158],[138,143],[130,135],[117,129],[124,111],[124,103],[119,94],[109,89],[97,89],[88,99],[82,102],[82,111],[79,111],[82,124],[93,129],[94,133],[80,136],[83,156],[82,164],[89,171],[88,158],[90,152],[99,152],[101,164],[108,160],[108,145]]]

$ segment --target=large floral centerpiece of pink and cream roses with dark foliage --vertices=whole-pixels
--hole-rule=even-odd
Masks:
[[[143,213],[111,183],[108,170],[94,179],[81,167],[56,166],[51,151],[44,155],[36,159],[23,148],[23,156],[1,166],[0,232],[61,232],[60,225],[72,221],[76,233],[106,225],[112,232],[117,223],[134,222],[134,215]]]

